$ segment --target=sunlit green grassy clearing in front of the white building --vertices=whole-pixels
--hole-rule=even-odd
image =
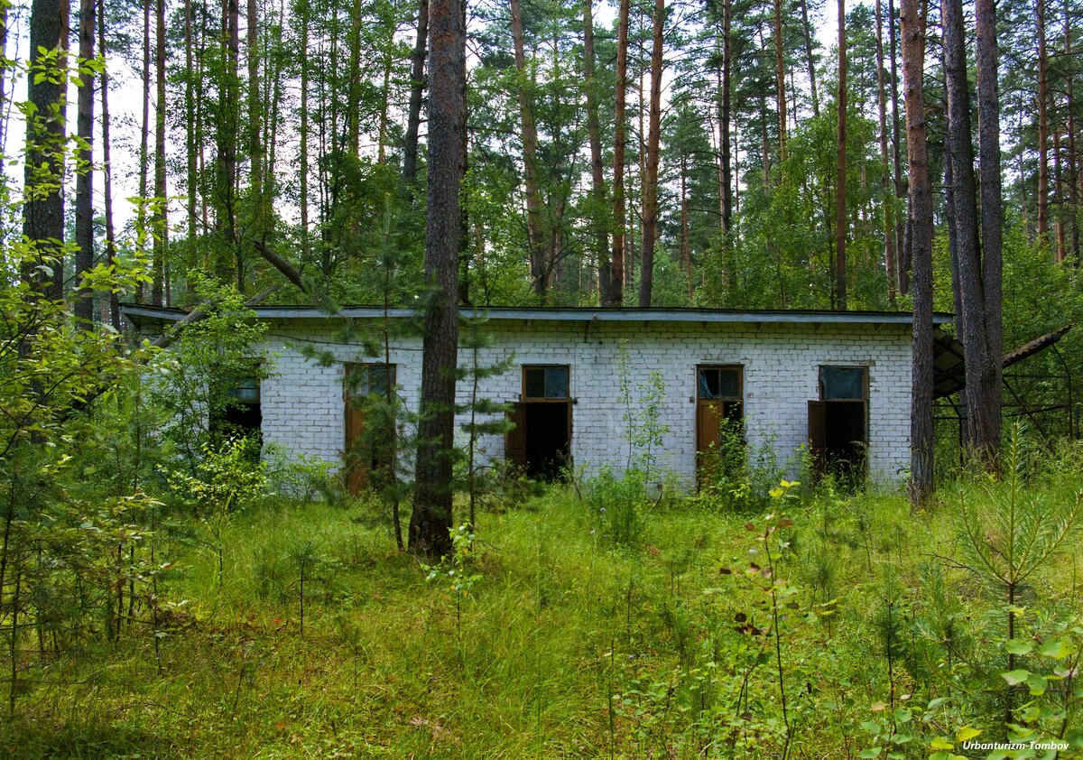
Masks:
[[[782,490],[793,525],[553,488],[481,513],[466,561],[432,569],[364,505],[237,515],[221,575],[200,525],[164,530],[159,635],[125,630],[37,673],[0,754],[979,757],[944,744],[1002,731],[999,699],[1036,704],[1001,694],[1004,604],[947,560],[950,496],[912,514],[899,495]],[[1077,553],[1039,568],[1016,624],[1060,635],[1061,663],[1083,633]],[[1078,689],[1054,681],[1066,720],[1016,721],[1074,745]]]

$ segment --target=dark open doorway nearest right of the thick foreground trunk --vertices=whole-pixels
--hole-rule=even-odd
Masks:
[[[523,367],[522,393],[508,418],[505,456],[529,477],[554,481],[571,466],[572,399],[567,365]]]

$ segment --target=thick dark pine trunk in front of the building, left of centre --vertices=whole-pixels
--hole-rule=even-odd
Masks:
[[[452,448],[458,344],[459,185],[466,163],[466,23],[462,0],[432,0],[429,71],[429,192],[421,407],[409,548],[430,556],[452,549]]]

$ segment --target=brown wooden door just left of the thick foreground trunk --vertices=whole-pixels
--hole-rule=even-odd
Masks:
[[[373,404],[386,396],[395,384],[395,365],[345,365],[345,487],[356,496],[369,484],[371,473],[384,470],[391,463],[387,431],[374,424],[384,415],[374,416]],[[375,397],[375,398],[374,398]],[[366,424],[367,422],[367,424]],[[393,421],[388,423],[393,424]]]

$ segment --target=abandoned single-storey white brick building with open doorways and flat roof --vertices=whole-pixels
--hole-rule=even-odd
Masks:
[[[348,484],[360,487],[375,462],[355,454],[364,418],[354,397],[392,383],[416,410],[420,335],[394,330],[386,363],[382,352],[363,349],[387,324],[379,307],[335,315],[304,306],[253,311],[268,326],[259,351],[269,377],[237,379],[238,418],[259,427],[264,445],[337,467],[349,462]],[[148,332],[185,316],[138,305],[125,314]],[[415,315],[389,316],[402,324]],[[511,432],[483,435],[479,454],[516,461],[533,476],[552,477],[572,463],[623,469],[629,422],[641,425],[647,415],[657,431],[656,472],[687,485],[725,420],[740,421],[748,446],[771,446],[783,461],[808,446],[826,466],[880,483],[901,482],[909,470],[909,314],[492,307],[477,316],[487,317],[488,337],[478,365],[508,366],[482,378],[478,395],[509,405],[514,422]],[[950,320],[935,317],[937,325]],[[342,337],[347,325],[356,337]],[[334,361],[310,358],[305,345]],[[460,367],[469,368],[473,354],[460,350]],[[471,390],[470,382],[458,384],[460,404]],[[458,429],[466,417],[459,415]]]

